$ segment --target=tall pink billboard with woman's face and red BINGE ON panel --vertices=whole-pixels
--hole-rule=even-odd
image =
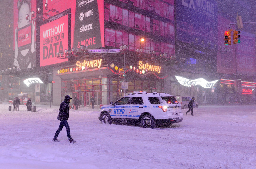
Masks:
[[[36,22],[32,21],[36,0],[13,1],[14,66],[27,69],[36,66]]]

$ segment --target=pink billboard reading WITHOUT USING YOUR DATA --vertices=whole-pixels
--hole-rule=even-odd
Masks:
[[[56,52],[64,52],[65,49],[70,48],[68,16],[64,15],[40,27],[40,66],[68,61],[56,56]]]

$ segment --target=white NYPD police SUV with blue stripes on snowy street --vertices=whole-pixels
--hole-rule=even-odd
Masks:
[[[167,93],[133,92],[113,104],[101,106],[99,120],[105,124],[118,119],[133,120],[146,128],[158,124],[170,126],[183,120],[181,105],[173,98]]]

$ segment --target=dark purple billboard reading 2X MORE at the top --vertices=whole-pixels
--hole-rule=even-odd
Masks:
[[[176,1],[177,40],[216,44],[217,14],[216,0]]]

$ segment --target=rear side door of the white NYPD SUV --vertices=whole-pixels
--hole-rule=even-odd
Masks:
[[[127,118],[138,119],[145,111],[142,97],[131,97],[127,106]]]

